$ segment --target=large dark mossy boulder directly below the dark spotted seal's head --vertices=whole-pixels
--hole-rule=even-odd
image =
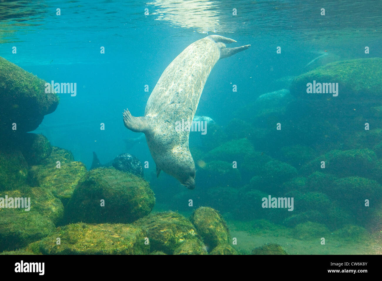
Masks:
[[[73,223],[132,223],[149,214],[154,204],[154,192],[141,177],[97,168],[79,181],[65,218]]]

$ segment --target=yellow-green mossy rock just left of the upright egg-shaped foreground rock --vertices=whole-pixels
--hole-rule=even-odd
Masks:
[[[168,255],[172,255],[185,240],[199,238],[191,222],[175,212],[149,214],[133,225],[147,230],[152,251],[162,251]]]

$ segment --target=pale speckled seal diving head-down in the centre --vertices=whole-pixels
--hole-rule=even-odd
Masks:
[[[176,123],[192,123],[204,84],[220,58],[248,49],[251,45],[226,48],[236,42],[210,35],[189,45],[163,71],[147,100],[144,116],[123,113],[125,127],[146,136],[152,158],[161,170],[189,189],[195,188],[195,164],[188,148],[189,130]]]

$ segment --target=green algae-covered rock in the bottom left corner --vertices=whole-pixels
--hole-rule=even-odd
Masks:
[[[0,251],[25,247],[54,230],[52,221],[36,211],[0,209]]]

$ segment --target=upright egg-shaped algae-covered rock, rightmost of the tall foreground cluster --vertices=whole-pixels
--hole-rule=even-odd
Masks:
[[[217,245],[230,243],[227,224],[218,211],[209,207],[200,207],[194,211],[190,220],[208,249],[212,250]]]

